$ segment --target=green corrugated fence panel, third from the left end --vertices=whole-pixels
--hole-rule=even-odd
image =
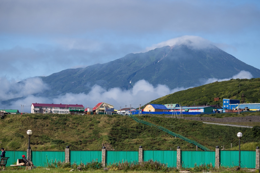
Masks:
[[[70,163],[90,163],[98,161],[101,163],[102,151],[69,151]]]

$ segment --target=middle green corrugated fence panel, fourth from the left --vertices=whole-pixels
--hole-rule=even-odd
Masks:
[[[138,151],[106,151],[106,164],[138,162]]]

